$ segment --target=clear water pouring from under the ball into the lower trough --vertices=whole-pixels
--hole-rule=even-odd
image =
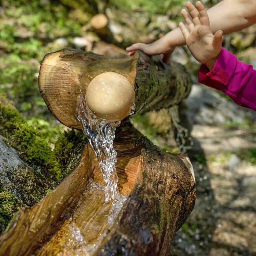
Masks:
[[[116,127],[121,124],[120,121],[109,123],[93,115],[88,108],[85,99],[85,93],[77,98],[77,116],[83,126],[83,132],[88,138],[100,165],[100,170],[106,182],[105,202],[114,200],[118,194],[116,174],[116,150],[113,146]],[[130,115],[134,113],[135,105],[133,104]]]

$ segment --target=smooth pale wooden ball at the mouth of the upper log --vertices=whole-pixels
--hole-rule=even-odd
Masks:
[[[114,122],[131,112],[134,90],[126,77],[106,72],[94,77],[86,90],[86,103],[100,119]]]

